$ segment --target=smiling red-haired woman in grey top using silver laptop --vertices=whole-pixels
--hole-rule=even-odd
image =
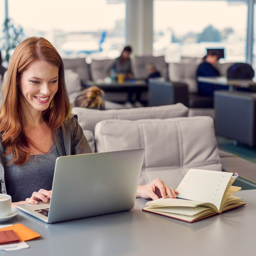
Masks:
[[[0,106],[0,189],[13,206],[51,197],[57,157],[91,153],[65,87],[63,61],[44,38],[30,37],[13,53]],[[36,192],[34,192],[36,191]],[[175,197],[159,179],[137,197]]]

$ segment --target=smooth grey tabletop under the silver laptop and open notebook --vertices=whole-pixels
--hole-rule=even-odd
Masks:
[[[195,223],[134,209],[98,217],[47,224],[20,212],[3,224],[22,223],[42,235],[30,248],[8,256],[254,256],[256,190],[239,191],[246,206]]]

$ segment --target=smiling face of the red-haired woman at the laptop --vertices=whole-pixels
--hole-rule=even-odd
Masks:
[[[58,73],[57,66],[44,60],[32,61],[21,73],[18,84],[30,111],[44,111],[50,106],[58,90]]]

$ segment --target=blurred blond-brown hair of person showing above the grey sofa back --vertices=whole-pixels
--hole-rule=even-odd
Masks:
[[[72,107],[86,107],[95,110],[105,110],[105,104],[102,100],[104,91],[99,89],[97,86],[91,86],[76,97]]]

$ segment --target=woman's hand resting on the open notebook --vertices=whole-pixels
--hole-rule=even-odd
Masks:
[[[138,185],[136,198],[156,200],[160,197],[166,198],[167,195],[170,198],[176,198],[176,194],[178,194],[178,191],[168,187],[162,180],[157,178],[144,186]]]

